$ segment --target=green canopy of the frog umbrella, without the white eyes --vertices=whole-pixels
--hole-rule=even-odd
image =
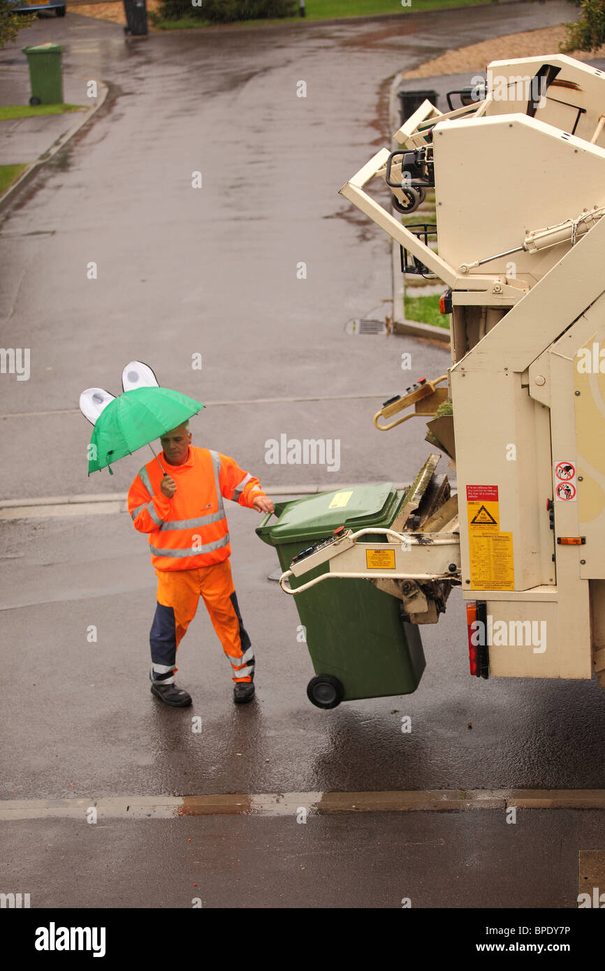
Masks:
[[[88,446],[88,475],[149,445],[203,407],[169,387],[137,387],[118,394],[96,419]]]

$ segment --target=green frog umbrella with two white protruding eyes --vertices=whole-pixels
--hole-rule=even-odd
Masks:
[[[131,361],[122,372],[122,394],[114,397],[101,387],[88,387],[80,396],[84,418],[93,425],[88,446],[88,475],[149,445],[204,407],[169,387],[159,387],[147,364]],[[153,450],[151,449],[151,452]],[[153,452],[162,472],[157,455]]]

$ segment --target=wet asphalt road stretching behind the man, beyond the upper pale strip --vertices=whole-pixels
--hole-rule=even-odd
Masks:
[[[393,440],[371,418],[410,376],[444,374],[450,354],[345,338],[347,320],[391,296],[390,262],[386,234],[338,189],[387,144],[396,72],[569,16],[561,0],[131,43],[116,24],[45,17],[27,43],[65,43],[65,70],[111,84],[113,99],[2,224],[4,340],[27,340],[31,378],[5,377],[1,413],[77,409],[90,385],[117,393],[133,357],[202,402],[375,394],[209,408],[195,419],[196,441],[260,466],[264,485],[332,479],[326,469],[263,469],[265,441],[282,433],[339,438],[343,480],[411,481],[427,453],[423,433],[411,421]],[[20,47],[0,52],[0,67],[22,63]],[[90,262],[96,280],[86,277]],[[411,375],[402,352],[412,354]],[[194,353],[201,371],[191,369]],[[0,469],[5,498],[121,490],[140,464],[86,482],[80,414],[0,421],[0,446],[15,437],[36,443],[36,460],[12,450]]]

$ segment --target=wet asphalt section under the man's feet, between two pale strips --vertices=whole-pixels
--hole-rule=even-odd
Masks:
[[[193,696],[183,711],[151,698],[155,577],[128,515],[38,520],[25,533],[3,524],[2,606],[13,605],[5,641],[18,645],[3,670],[18,690],[3,699],[2,798],[605,788],[596,680],[471,678],[459,590],[439,623],[421,628],[427,664],[414,694],[316,709],[295,605],[266,579],[277,556],[254,535],[251,510],[233,506],[228,518],[257,701],[233,705],[230,668],[201,606],[179,648],[178,680]],[[91,624],[96,643],[86,639]]]

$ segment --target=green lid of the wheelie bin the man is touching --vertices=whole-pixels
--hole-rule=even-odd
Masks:
[[[392,483],[378,485],[351,485],[319,495],[305,496],[275,505],[277,521],[270,523],[267,516],[256,535],[269,546],[281,546],[298,540],[319,540],[329,536],[338,526],[387,525],[392,516],[393,497],[397,490]],[[402,496],[403,493],[400,493]]]

